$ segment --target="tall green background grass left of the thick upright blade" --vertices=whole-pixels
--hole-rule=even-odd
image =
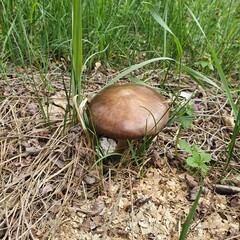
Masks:
[[[1,0],[1,59],[44,67],[51,57],[69,56],[71,1]],[[67,53],[67,55],[66,55]]]

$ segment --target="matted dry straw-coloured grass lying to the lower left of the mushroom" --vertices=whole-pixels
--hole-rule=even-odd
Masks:
[[[0,219],[7,236],[35,239],[36,234],[48,236],[56,230],[92,154],[79,127],[66,133],[63,122],[56,121],[49,130],[38,114],[21,118],[24,108],[19,99],[1,105],[6,135],[0,138]]]

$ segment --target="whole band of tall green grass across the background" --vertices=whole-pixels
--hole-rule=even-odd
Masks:
[[[177,56],[173,40],[151,17],[147,1],[83,1],[84,56],[110,66],[126,67],[156,56]],[[1,61],[14,64],[32,62],[48,66],[49,59],[70,59],[72,1],[1,0]],[[179,39],[188,66],[211,72],[212,57],[206,42],[186,9],[188,6],[204,26],[206,36],[218,53],[226,73],[232,73],[240,57],[239,1],[163,0],[149,1]],[[26,41],[27,35],[27,41]],[[142,59],[143,53],[145,59]],[[84,60],[85,60],[84,59]]]

